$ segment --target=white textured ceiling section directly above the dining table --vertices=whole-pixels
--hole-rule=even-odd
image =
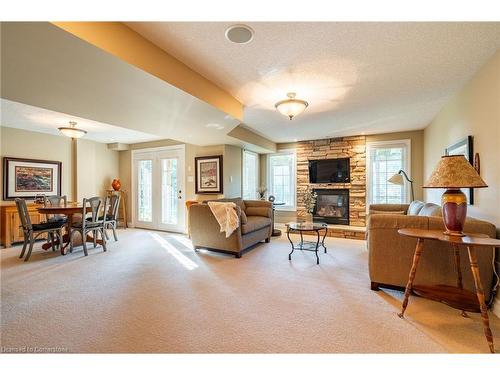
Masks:
[[[132,129],[121,128],[92,121],[66,113],[50,111],[31,105],[0,99],[0,126],[60,135],[60,127],[69,126],[76,121],[76,127],[86,130],[85,139],[101,143],[137,143],[160,139],[159,136]]]

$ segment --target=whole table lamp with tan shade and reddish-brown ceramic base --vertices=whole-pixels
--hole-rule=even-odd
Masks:
[[[488,187],[463,155],[442,156],[424,188],[445,188],[441,197],[445,234],[464,236],[467,197],[460,188]]]

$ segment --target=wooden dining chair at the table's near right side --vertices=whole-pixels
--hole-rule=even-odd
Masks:
[[[82,220],[73,223],[69,228],[69,251],[73,252],[73,234],[79,232],[82,236],[83,253],[89,255],[87,251],[87,233],[92,232],[94,248],[97,246],[97,233],[100,233],[102,248],[106,251],[106,236],[104,234],[104,221],[99,220],[99,210],[102,206],[101,197],[83,198]],[[90,207],[90,212],[87,208]]]

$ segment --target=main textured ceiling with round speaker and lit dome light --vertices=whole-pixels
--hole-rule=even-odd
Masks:
[[[127,23],[244,105],[245,125],[275,142],[424,128],[500,47],[500,23]],[[274,104],[307,100],[289,121]]]

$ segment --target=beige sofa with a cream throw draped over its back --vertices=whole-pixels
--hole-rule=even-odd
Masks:
[[[226,234],[220,232],[220,225],[206,202],[190,206],[189,233],[195,250],[208,249],[234,254],[236,258],[241,258],[242,252],[252,245],[264,240],[270,241],[273,230],[271,202],[240,198],[218,201],[236,203],[240,225],[226,238]]]

